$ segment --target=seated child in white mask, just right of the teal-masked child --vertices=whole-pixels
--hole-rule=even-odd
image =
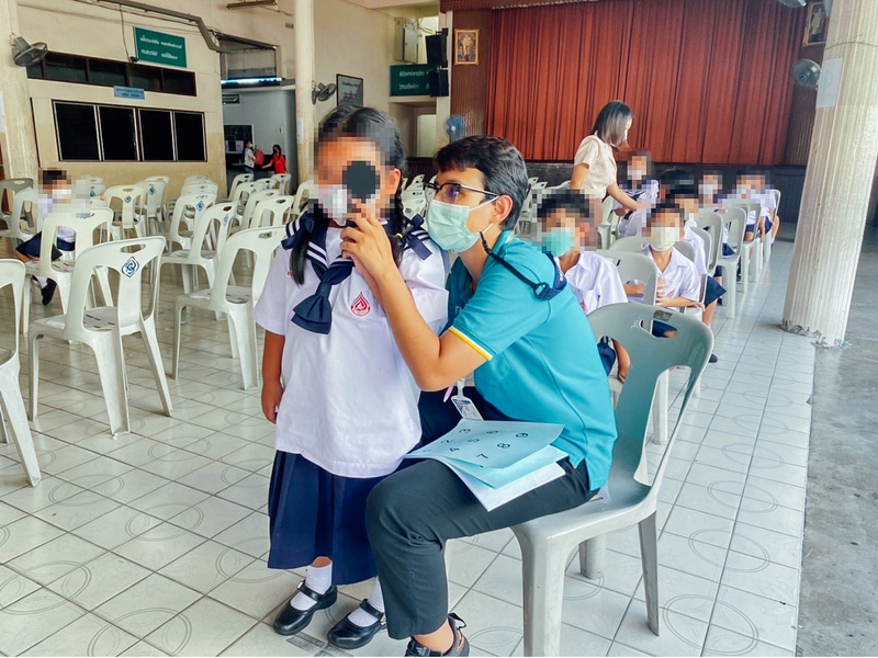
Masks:
[[[695,263],[674,249],[683,235],[684,212],[682,208],[669,204],[658,204],[650,215],[646,227],[649,228],[649,242],[640,251],[649,256],[661,272],[658,291],[655,298],[656,306],[665,308],[685,308],[691,306],[703,308],[699,300],[701,296],[701,280]],[[643,302],[643,283],[630,281],[624,285],[624,292],[631,302]],[[663,322],[653,322],[655,336],[673,334],[673,327]]]

